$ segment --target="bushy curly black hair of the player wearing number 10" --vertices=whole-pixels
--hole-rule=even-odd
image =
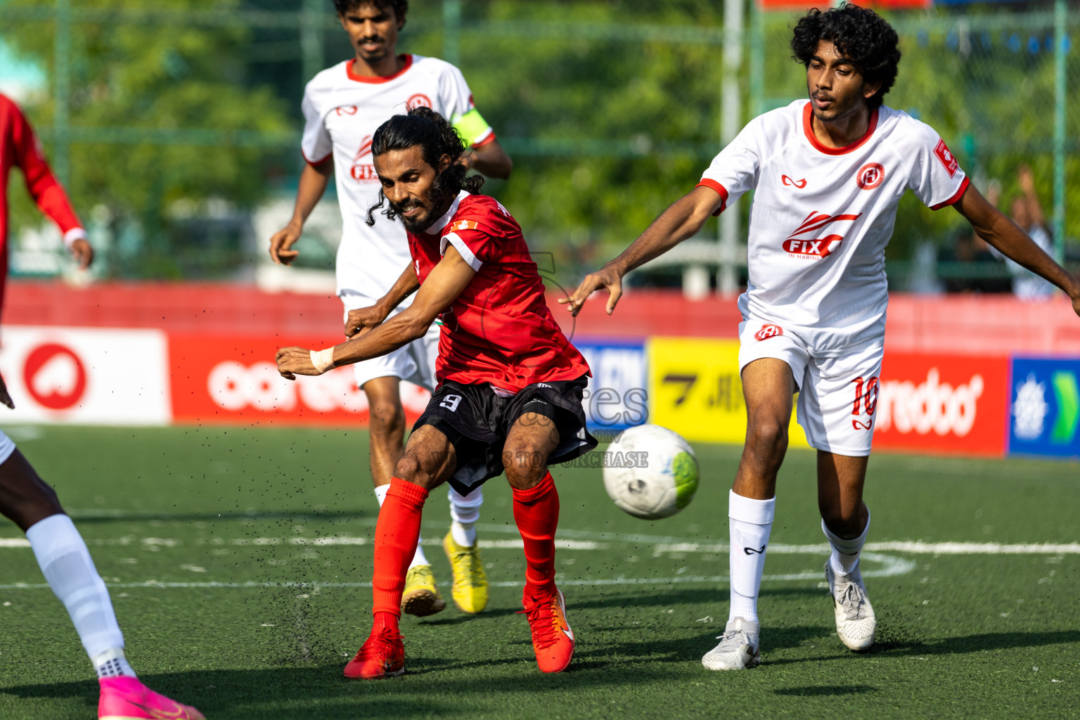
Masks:
[[[811,10],[799,18],[792,37],[792,59],[809,67],[818,43],[829,40],[836,52],[851,60],[866,82],[881,87],[866,104],[880,107],[885,94],[896,82],[900,65],[900,38],[889,23],[873,10],[846,4],[821,12]]]

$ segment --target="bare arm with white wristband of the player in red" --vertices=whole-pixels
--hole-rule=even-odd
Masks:
[[[446,255],[428,275],[416,300],[406,310],[382,323],[370,332],[357,336],[334,348],[311,351],[283,348],[278,351],[278,371],[295,380],[298,375],[322,375],[327,370],[379,357],[423,337],[438,314],[465,289],[476,271],[469,267],[457,248],[448,245]]]

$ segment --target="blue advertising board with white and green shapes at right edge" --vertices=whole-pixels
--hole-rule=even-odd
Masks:
[[[1013,358],[1009,454],[1080,457],[1080,359]]]

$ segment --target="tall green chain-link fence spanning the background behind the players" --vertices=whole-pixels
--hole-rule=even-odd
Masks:
[[[487,191],[534,247],[554,254],[561,276],[633,240],[719,147],[725,33],[715,0],[410,4],[400,50],[461,67],[515,161],[511,180]],[[740,124],[806,94],[788,49],[796,15],[747,11]],[[1080,218],[1066,213],[1080,192],[1080,120],[1066,107],[1080,13],[1058,0],[889,18],[904,51],[889,105],[933,125],[982,189],[996,181],[1002,209],[1018,192],[1018,168],[1030,166],[1068,253],[1080,236]],[[292,205],[303,82],[351,56],[330,1],[0,0],[0,21],[12,54],[42,70],[44,82],[21,99],[103,249],[98,272],[252,277],[266,228]],[[40,218],[25,199],[15,204],[24,232],[13,270],[56,272],[58,241],[26,232]],[[333,199],[325,204],[322,217],[333,218]],[[321,227],[301,250],[326,269],[335,228]],[[906,198],[888,250],[895,285],[1005,276],[957,255],[970,241],[962,228],[957,214]],[[677,285],[693,266],[707,282],[717,232],[711,222],[702,241],[643,277]]]

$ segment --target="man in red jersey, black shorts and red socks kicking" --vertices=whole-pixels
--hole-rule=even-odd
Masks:
[[[379,127],[373,154],[382,191],[368,222],[389,204],[382,212],[401,219],[413,256],[413,267],[380,301],[380,314],[388,316],[419,288],[416,299],[340,345],[278,352],[283,377],[321,375],[392,352],[441,318],[438,388],[413,429],[379,513],[375,627],[346,666],[347,677],[405,671],[401,595],[429,491],[449,483],[468,494],[503,471],[525,544],[522,603],[537,664],[558,673],[573,655],[566,603],[554,582],[558,493],[548,465],[596,447],[581,406],[589,366],[544,301],[517,222],[498,202],[476,194],[483,178],[465,177],[458,162],[463,151],[457,132],[428,108]]]

